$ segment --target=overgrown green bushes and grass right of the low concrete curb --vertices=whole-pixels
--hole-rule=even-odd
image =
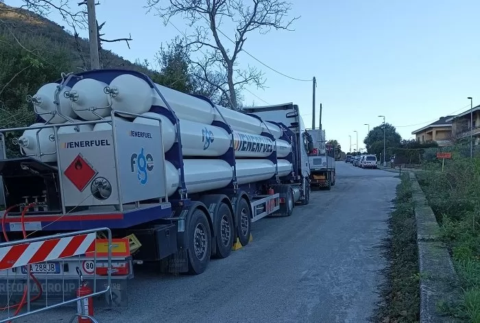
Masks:
[[[480,158],[455,147],[453,158],[433,160],[417,174],[440,224],[463,288],[463,298],[444,311],[464,322],[480,322]]]

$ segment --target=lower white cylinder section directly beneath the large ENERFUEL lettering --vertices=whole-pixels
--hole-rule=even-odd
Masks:
[[[237,159],[236,164],[239,184],[268,180],[275,175],[275,165],[268,159]]]

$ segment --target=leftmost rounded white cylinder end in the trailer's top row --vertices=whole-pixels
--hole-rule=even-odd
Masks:
[[[70,91],[71,88],[64,86],[62,91],[58,94],[58,101],[60,105],[60,113],[64,117],[60,117],[57,112],[57,106],[55,102],[55,93],[57,91],[58,84],[47,83],[38,89],[37,93],[32,97],[34,108],[40,118],[49,123],[64,123],[67,121],[64,117],[73,118],[75,113],[71,108],[71,102],[64,97],[65,91]],[[53,112],[53,113],[52,113]]]

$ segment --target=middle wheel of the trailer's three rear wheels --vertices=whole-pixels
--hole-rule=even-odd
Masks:
[[[217,258],[226,258],[230,256],[233,245],[233,219],[230,208],[225,203],[221,203],[215,215],[215,242],[217,243]]]

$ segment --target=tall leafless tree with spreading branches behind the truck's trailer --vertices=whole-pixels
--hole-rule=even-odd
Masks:
[[[291,30],[291,24],[298,19],[285,20],[291,9],[291,3],[287,1],[251,2],[251,5],[245,5],[245,0],[169,0],[169,5],[161,6],[160,0],[147,0],[147,8],[155,9],[165,25],[177,15],[189,21],[193,34],[185,35],[186,46],[204,54],[199,60],[192,59],[194,73],[221,91],[231,108],[237,108],[237,94],[243,86],[255,84],[261,88],[265,82],[263,73],[258,69],[238,67],[237,58],[243,50],[247,34],[255,31],[266,34],[272,28]],[[220,30],[223,19],[235,23],[235,35],[228,36]],[[222,40],[220,35],[227,40]],[[230,43],[232,46],[227,46]]]

